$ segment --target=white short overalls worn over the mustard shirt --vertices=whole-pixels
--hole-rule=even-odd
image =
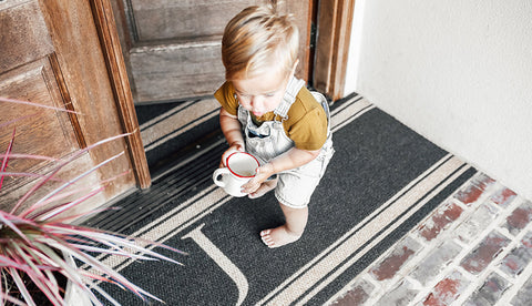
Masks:
[[[305,81],[291,78],[283,101],[274,110],[274,114],[276,114],[274,121],[266,121],[260,126],[253,122],[249,111],[242,105],[238,108],[238,121],[243,126],[246,151],[260,160],[263,164],[294,147],[294,141],[286,135],[283,122],[288,119],[288,110],[304,84]],[[327,114],[327,141],[321,146],[318,156],[311,162],[278,174],[279,181],[275,195],[280,203],[290,207],[305,207],[308,205],[310,196],[335,152],[332,149],[330,113],[327,100],[319,92],[311,93]],[[278,118],[280,118],[280,121],[277,120]]]

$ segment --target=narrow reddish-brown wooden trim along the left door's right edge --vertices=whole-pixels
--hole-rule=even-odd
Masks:
[[[125,141],[127,143],[133,172],[137,185],[141,188],[147,188],[151,186],[152,180],[147,167],[146,153],[141,139],[139,120],[136,118],[112,6],[109,0],[91,0],[90,2],[108,65],[108,74],[111,80],[114,100],[120,113],[121,124],[124,132],[130,133]]]

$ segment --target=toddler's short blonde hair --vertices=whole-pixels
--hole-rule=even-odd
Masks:
[[[252,78],[268,69],[291,72],[297,61],[299,32],[290,16],[270,7],[249,7],[225,27],[222,61],[227,80]]]

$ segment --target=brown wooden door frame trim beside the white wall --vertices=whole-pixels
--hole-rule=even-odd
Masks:
[[[344,95],[354,12],[355,0],[319,1],[314,86],[332,101]]]

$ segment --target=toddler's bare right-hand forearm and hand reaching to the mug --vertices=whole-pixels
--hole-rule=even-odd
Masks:
[[[269,176],[307,164],[316,159],[320,151],[321,150],[307,151],[297,147],[288,150],[287,152],[273,159],[269,163],[258,167],[255,177],[249,180],[247,184],[243,185],[243,191],[246,193],[254,193]]]

